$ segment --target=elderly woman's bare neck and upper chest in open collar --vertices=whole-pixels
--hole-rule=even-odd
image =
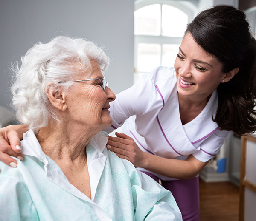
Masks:
[[[96,130],[96,129],[95,129]],[[96,134],[91,127],[61,122],[40,128],[37,139],[44,153],[61,168],[67,179],[91,198],[86,145]]]

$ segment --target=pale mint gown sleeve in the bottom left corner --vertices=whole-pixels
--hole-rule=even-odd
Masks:
[[[0,162],[0,220],[39,221],[37,211],[18,168]]]

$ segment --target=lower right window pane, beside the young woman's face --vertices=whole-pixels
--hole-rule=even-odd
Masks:
[[[174,67],[180,45],[162,45],[162,66]]]

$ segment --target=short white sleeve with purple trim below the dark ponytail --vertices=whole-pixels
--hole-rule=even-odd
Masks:
[[[201,143],[200,150],[193,153],[193,156],[204,163],[212,159],[220,151],[229,133],[230,131],[217,130],[216,133],[212,134]]]

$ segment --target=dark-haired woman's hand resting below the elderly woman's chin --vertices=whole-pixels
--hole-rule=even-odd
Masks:
[[[144,152],[131,137],[124,133],[116,132],[116,137],[108,136],[107,148],[116,153],[119,158],[130,161],[134,167],[143,167]]]

